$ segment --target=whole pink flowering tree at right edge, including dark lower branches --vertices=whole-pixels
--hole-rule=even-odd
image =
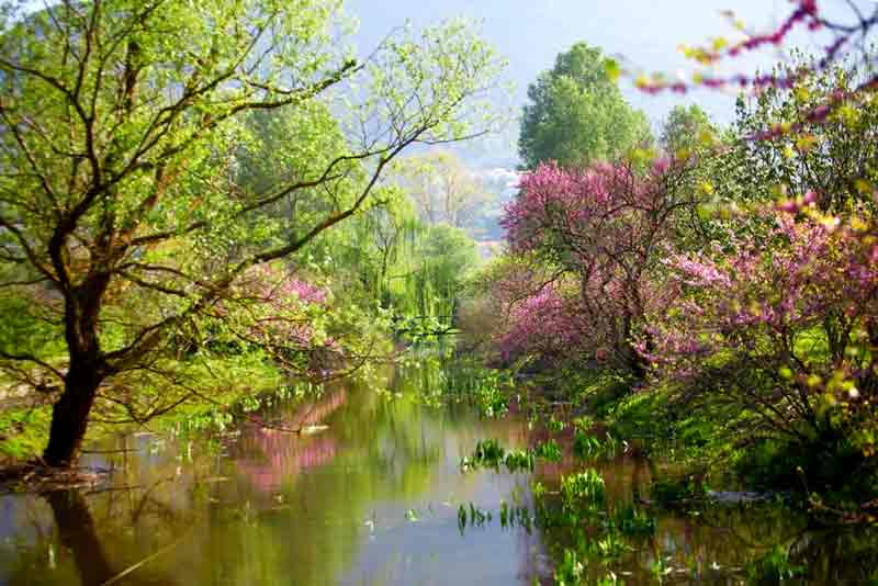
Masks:
[[[682,294],[639,350],[684,402],[736,409],[750,437],[851,441],[870,457],[878,245],[866,224],[824,218],[812,201],[778,206],[761,218],[767,229],[724,247],[668,258]]]

